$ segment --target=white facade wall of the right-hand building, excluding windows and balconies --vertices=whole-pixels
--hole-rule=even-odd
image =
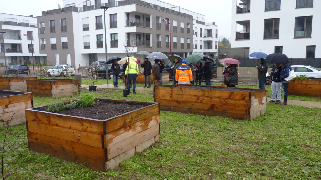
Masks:
[[[265,0],[252,0],[250,13],[236,14],[237,0],[232,0],[231,47],[249,47],[249,52],[274,53],[275,46],[283,46],[289,58],[306,58],[306,46],[315,45],[315,58],[321,58],[321,1],[314,0],[313,7],[296,8],[295,0],[281,0],[280,10],[264,11]],[[312,35],[294,38],[295,17],[312,16]],[[280,18],[279,39],[263,39],[264,20]],[[237,21],[250,21],[249,40],[236,40],[240,30]],[[245,30],[245,29],[244,29]]]

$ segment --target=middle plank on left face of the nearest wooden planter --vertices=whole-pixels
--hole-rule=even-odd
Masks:
[[[51,126],[48,124],[42,124],[37,122],[28,122],[28,131],[38,133],[41,135],[47,135],[59,139],[72,141],[75,143],[86,144],[98,148],[102,148],[102,135],[88,133],[84,131]]]

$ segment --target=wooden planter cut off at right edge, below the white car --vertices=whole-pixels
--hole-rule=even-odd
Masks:
[[[313,80],[290,80],[289,95],[321,97],[321,78]]]

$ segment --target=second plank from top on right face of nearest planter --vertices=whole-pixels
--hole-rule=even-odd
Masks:
[[[113,131],[107,135],[105,135],[105,147],[112,146],[124,139],[127,139],[133,135],[136,135],[142,131],[145,131],[148,128],[151,128],[160,123],[160,115],[157,114],[155,116],[143,119],[138,121],[132,125],[123,127],[116,131]]]

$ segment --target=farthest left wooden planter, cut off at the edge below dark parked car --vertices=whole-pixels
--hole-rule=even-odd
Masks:
[[[3,77],[0,78],[0,89],[6,91],[27,92],[27,80],[37,77]]]

